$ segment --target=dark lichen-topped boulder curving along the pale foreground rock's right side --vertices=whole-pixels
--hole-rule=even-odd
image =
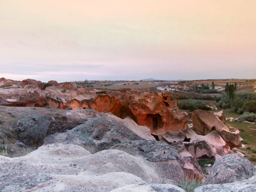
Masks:
[[[177,151],[161,141],[133,140],[119,143],[111,149],[118,149],[133,156],[141,156],[153,164],[162,182],[179,181],[184,176],[183,162]]]

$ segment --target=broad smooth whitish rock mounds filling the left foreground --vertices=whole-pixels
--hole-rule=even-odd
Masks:
[[[26,156],[2,157],[0,166],[4,180],[1,180],[0,190],[3,192],[107,192],[122,186],[142,191],[183,192],[171,184],[145,184],[159,183],[163,179],[156,174],[157,167],[142,157],[116,149],[91,154],[76,145],[55,143],[41,146]]]

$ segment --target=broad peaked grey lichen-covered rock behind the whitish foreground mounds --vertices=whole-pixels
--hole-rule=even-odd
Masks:
[[[142,139],[129,128],[116,123],[108,116],[89,118],[84,124],[78,125],[64,133],[55,133],[44,140],[44,144],[65,143],[85,148],[91,153],[108,149],[117,143]]]

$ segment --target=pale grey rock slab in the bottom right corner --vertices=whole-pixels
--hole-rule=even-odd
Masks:
[[[256,170],[256,167],[254,168]],[[256,172],[250,179],[235,181],[225,184],[203,185],[194,192],[255,192],[256,191]]]

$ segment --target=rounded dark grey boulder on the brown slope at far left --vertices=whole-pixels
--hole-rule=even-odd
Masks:
[[[29,115],[17,122],[16,132],[20,141],[27,145],[43,144],[50,122],[40,115]]]

